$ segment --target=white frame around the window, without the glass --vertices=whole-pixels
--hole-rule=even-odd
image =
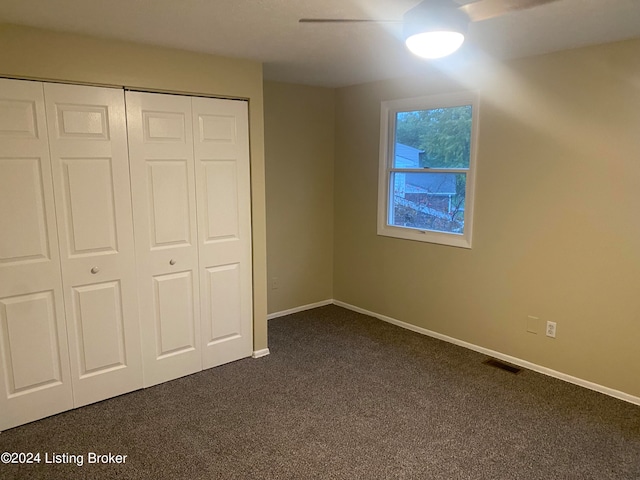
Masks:
[[[476,149],[478,139],[478,94],[458,92],[444,95],[429,95],[416,98],[384,101],[380,113],[380,162],[378,173],[378,235],[438,243],[453,247],[471,248],[473,232],[473,207],[475,203]],[[469,168],[429,168],[429,173],[466,173],[465,212],[463,233],[439,232],[389,224],[389,207],[392,190],[391,173],[395,156],[396,114],[416,110],[458,107],[471,105],[471,145]],[[426,171],[426,170],[420,170]]]

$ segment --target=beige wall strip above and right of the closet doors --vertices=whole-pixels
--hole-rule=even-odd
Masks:
[[[262,65],[0,24],[0,76],[249,99],[254,349],[267,348]]]

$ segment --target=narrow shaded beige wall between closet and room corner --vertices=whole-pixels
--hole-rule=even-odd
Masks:
[[[264,85],[269,313],[333,298],[334,104],[332,89]]]

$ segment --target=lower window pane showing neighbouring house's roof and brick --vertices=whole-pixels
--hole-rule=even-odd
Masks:
[[[391,173],[389,224],[464,232],[464,173]]]

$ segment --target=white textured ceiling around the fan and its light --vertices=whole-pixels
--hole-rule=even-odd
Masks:
[[[469,3],[460,0],[459,3]],[[393,24],[418,0],[2,0],[0,22],[259,60],[269,80],[345,86],[419,72]],[[473,23],[455,58],[514,58],[640,37],[640,0],[558,0]],[[640,55],[640,52],[639,52]]]

